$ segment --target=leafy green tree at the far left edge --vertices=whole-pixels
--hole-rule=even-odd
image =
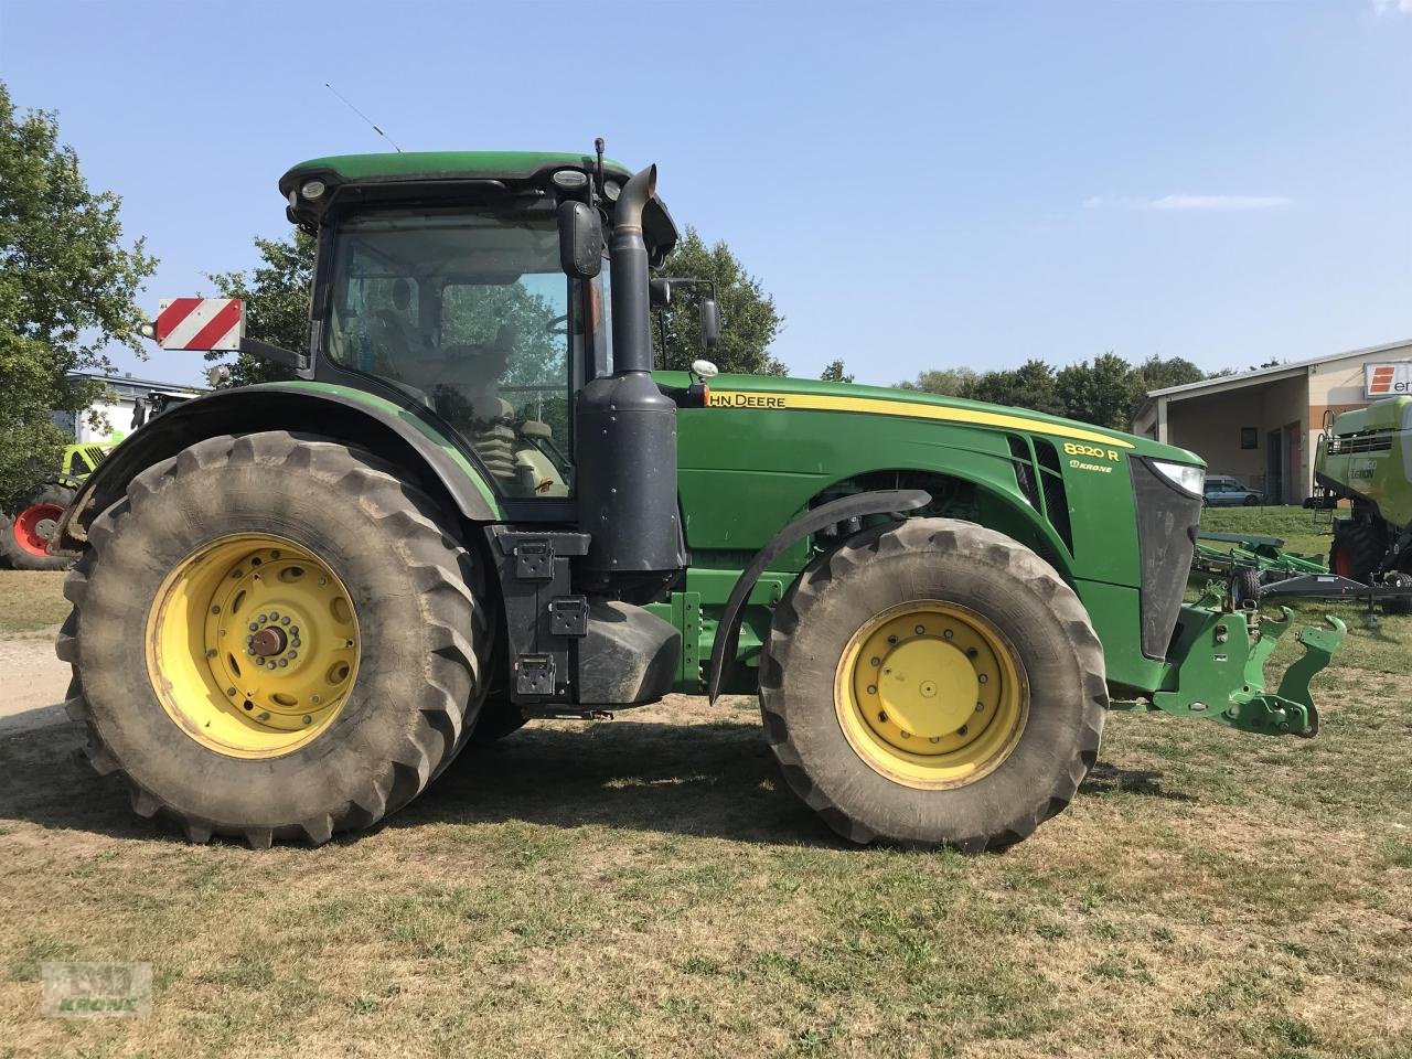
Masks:
[[[145,357],[137,295],[157,261],[123,246],[121,199],[93,192],[47,110],[16,113],[0,82],[0,503],[25,498],[72,441],[51,412],[80,414],[103,391],[119,343]]]

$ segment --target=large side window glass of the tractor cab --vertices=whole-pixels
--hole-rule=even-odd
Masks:
[[[570,496],[575,321],[552,219],[465,210],[346,219],[330,295],[330,360],[433,408],[505,496]]]

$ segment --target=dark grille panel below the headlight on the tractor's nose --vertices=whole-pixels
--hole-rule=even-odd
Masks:
[[[1142,654],[1163,661],[1196,555],[1202,498],[1178,489],[1144,459],[1132,457],[1128,466],[1132,469],[1142,566]]]

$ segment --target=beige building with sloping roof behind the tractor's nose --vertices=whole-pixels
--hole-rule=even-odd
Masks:
[[[1152,390],[1132,432],[1190,449],[1207,473],[1240,479],[1268,504],[1299,504],[1324,415],[1368,405],[1370,366],[1406,361],[1412,340]]]

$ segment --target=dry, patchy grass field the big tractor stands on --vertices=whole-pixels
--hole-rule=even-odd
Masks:
[[[1114,714],[976,858],[842,846],[746,699],[534,726],[264,853],[0,737],[0,1056],[1412,1056],[1412,624],[1340,613],[1319,738]],[[150,962],[154,1017],[37,1018],[44,960]]]

